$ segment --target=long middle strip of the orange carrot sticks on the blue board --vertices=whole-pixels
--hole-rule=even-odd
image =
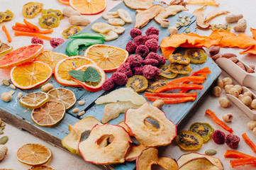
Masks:
[[[197,84],[170,84],[162,86],[159,89],[155,90],[155,93],[161,93],[162,91],[169,91],[174,89],[192,89],[192,90],[201,90],[204,86]]]

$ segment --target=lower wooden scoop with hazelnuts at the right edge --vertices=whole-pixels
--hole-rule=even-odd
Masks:
[[[256,95],[254,93],[252,93],[252,91],[247,89],[245,86],[242,86],[242,88],[243,88],[243,93],[249,91],[252,94],[252,100],[256,98]],[[250,110],[250,108],[248,108],[248,106],[246,106],[242,101],[240,101],[235,96],[232,96],[230,94],[226,94],[226,95],[228,96],[230,101],[235,103],[235,105],[238,106],[238,108],[240,108],[241,111],[243,111],[243,113],[245,113],[252,120],[256,120],[256,111]]]

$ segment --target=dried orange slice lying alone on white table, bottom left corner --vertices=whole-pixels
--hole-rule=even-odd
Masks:
[[[18,161],[31,166],[45,164],[50,157],[50,149],[41,144],[29,143],[20,147],[17,152]]]

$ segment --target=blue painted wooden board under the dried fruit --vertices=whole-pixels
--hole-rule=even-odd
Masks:
[[[134,26],[134,18],[135,18],[135,11],[126,7],[123,2],[121,4],[118,4],[114,8],[111,9],[111,11],[116,11],[118,8],[123,8],[126,11],[130,13],[130,15],[133,18],[133,23],[126,24],[126,32],[123,33],[122,35],[119,36],[117,40],[113,40],[110,42],[104,42],[106,45],[114,45],[116,47],[121,47],[123,49],[126,48],[126,43],[129,40],[132,40],[130,38],[130,30]],[[185,11],[180,12],[179,14],[182,14],[183,16],[189,16],[191,18],[191,23],[187,27],[182,27],[179,28],[179,33],[184,33],[186,28],[190,28],[191,32],[196,32],[196,18],[195,16],[191,15],[190,13],[187,13]],[[175,25],[177,23],[177,18],[178,15],[176,16],[171,16],[168,18],[169,22],[171,25]],[[98,18],[94,23],[96,22],[104,22],[107,23],[107,21],[104,18]],[[91,23],[92,25],[93,23]],[[87,26],[80,32],[94,32],[91,30],[91,25]],[[159,43],[161,42],[162,38],[165,38],[169,36],[167,28],[162,28],[158,23],[155,21],[150,21],[147,26],[142,28],[141,30],[143,31],[143,34],[145,34],[145,30],[149,27],[155,27],[160,29],[160,40]],[[65,53],[65,47],[67,46],[67,43],[70,40],[67,40],[64,42],[62,45],[59,47],[55,48],[55,52],[62,52]],[[83,55],[85,48],[82,48],[80,50],[80,55]],[[183,53],[183,49],[179,49],[179,53]],[[162,54],[160,50],[157,51],[158,54]],[[162,110],[165,111],[167,118],[169,120],[172,120],[175,124],[180,123],[180,121],[184,118],[185,115],[191,111],[191,109],[196,106],[196,103],[198,103],[199,100],[201,100],[202,96],[206,94],[206,91],[210,88],[211,84],[217,79],[217,77],[221,74],[221,69],[218,68],[218,66],[211,60],[210,57],[207,58],[206,63],[204,64],[191,64],[191,68],[193,69],[193,72],[196,70],[199,70],[204,67],[209,67],[211,69],[212,74],[209,74],[206,82],[204,83],[204,89],[201,91],[196,91],[198,93],[198,98],[196,98],[196,101],[194,102],[187,102],[187,103],[180,103],[180,104],[175,104],[175,105],[165,105]],[[107,77],[111,77],[111,73],[107,74]],[[55,88],[58,87],[64,87],[58,84],[54,77],[50,79],[50,82],[54,85]],[[81,116],[80,118],[77,116],[77,113],[72,113],[71,111],[67,111],[67,114],[65,115],[64,120],[62,120],[62,123],[60,125],[57,125],[55,128],[42,128],[39,127],[38,125],[35,125],[33,121],[30,118],[30,113],[31,110],[27,108],[23,108],[22,106],[19,105],[19,99],[17,97],[18,92],[21,91],[21,89],[16,89],[16,93],[13,94],[13,101],[9,103],[5,103],[4,101],[0,100],[0,118],[6,119],[7,123],[11,123],[13,125],[16,125],[18,128],[22,128],[25,130],[28,130],[28,132],[33,133],[33,135],[40,137],[41,139],[45,140],[46,142],[50,142],[52,145],[55,145],[57,147],[62,147],[60,140],[62,140],[63,137],[65,137],[69,131],[68,131],[68,125],[73,125],[76,123],[79,119],[84,118],[85,116],[92,115],[98,120],[101,120],[103,111],[104,111],[104,106],[105,105],[94,105],[94,101],[96,98],[99,98],[102,94],[105,94],[106,91],[98,91],[95,93],[91,93],[89,91],[86,91],[85,89],[82,88],[75,88],[75,87],[65,87],[67,89],[70,89],[74,91],[74,94],[77,97],[77,101],[79,100],[85,100],[86,103],[84,106],[79,106],[77,103],[74,106],[74,108],[79,108],[79,111],[86,111],[86,113]],[[6,87],[5,85],[0,86],[0,91],[10,91],[10,87]],[[26,95],[28,93],[34,92],[34,91],[40,91],[40,88],[37,89],[32,89],[32,90],[23,90],[23,95]],[[142,93],[143,95],[143,93]],[[124,114],[121,113],[118,118],[111,120],[109,123],[111,124],[117,124],[120,121],[124,120]],[[63,148],[63,147],[62,147]],[[110,166],[101,166],[103,169],[118,169],[118,170],[131,170],[135,169],[135,162],[126,162],[124,164],[114,164]]]

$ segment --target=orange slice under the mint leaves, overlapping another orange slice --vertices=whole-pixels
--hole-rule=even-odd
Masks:
[[[85,71],[88,67],[92,67],[96,69],[97,72],[99,72],[100,81],[95,83],[89,82],[89,81],[82,82],[77,79],[74,79],[74,81],[81,84],[84,87],[84,89],[86,89],[87,91],[91,91],[91,92],[100,91],[102,89],[102,85],[104,81],[106,80],[106,74],[99,66],[95,64],[87,64],[87,65],[78,67],[76,70]]]

